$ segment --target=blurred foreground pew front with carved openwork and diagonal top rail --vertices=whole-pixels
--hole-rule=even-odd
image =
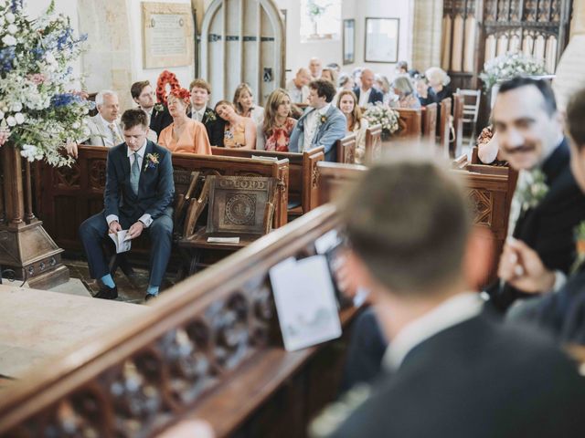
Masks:
[[[342,339],[287,352],[268,271],[314,255],[315,239],[337,227],[334,206],[315,209],[12,382],[0,397],[0,436],[147,437],[194,417],[218,438],[304,436],[335,399],[357,309],[340,311]]]

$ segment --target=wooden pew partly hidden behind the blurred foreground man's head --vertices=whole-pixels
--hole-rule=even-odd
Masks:
[[[348,186],[356,182],[367,167],[358,165],[319,162],[319,202],[335,201],[347,192]],[[491,168],[491,169],[487,169]],[[497,263],[505,243],[510,200],[514,188],[507,168],[494,166],[467,166],[454,169],[465,178],[467,194],[472,201],[475,224],[489,228],[495,245],[495,257],[484,284],[489,284],[497,276]],[[514,181],[516,183],[516,181]]]

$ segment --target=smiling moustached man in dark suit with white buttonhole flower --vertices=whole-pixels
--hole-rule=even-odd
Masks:
[[[569,142],[552,89],[533,78],[503,82],[492,120],[503,158],[519,172],[508,235],[537,252],[555,274],[550,288],[558,290],[575,261],[574,229],[585,220],[585,196],[570,172]],[[505,249],[498,268],[501,281],[487,288],[501,311],[517,298],[531,296],[515,281],[521,276],[516,263],[515,253]]]

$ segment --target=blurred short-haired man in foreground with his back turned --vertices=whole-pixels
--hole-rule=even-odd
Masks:
[[[313,438],[585,436],[585,380],[475,292],[490,262],[463,182],[432,159],[378,165],[343,209],[346,269],[390,339],[383,370],[316,418]]]

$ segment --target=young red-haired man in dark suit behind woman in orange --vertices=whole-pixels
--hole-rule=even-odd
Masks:
[[[223,146],[223,127],[225,121],[218,117],[216,111],[208,107],[211,86],[207,80],[197,78],[189,85],[191,90],[191,109],[187,116],[205,125],[207,138],[212,146]]]

